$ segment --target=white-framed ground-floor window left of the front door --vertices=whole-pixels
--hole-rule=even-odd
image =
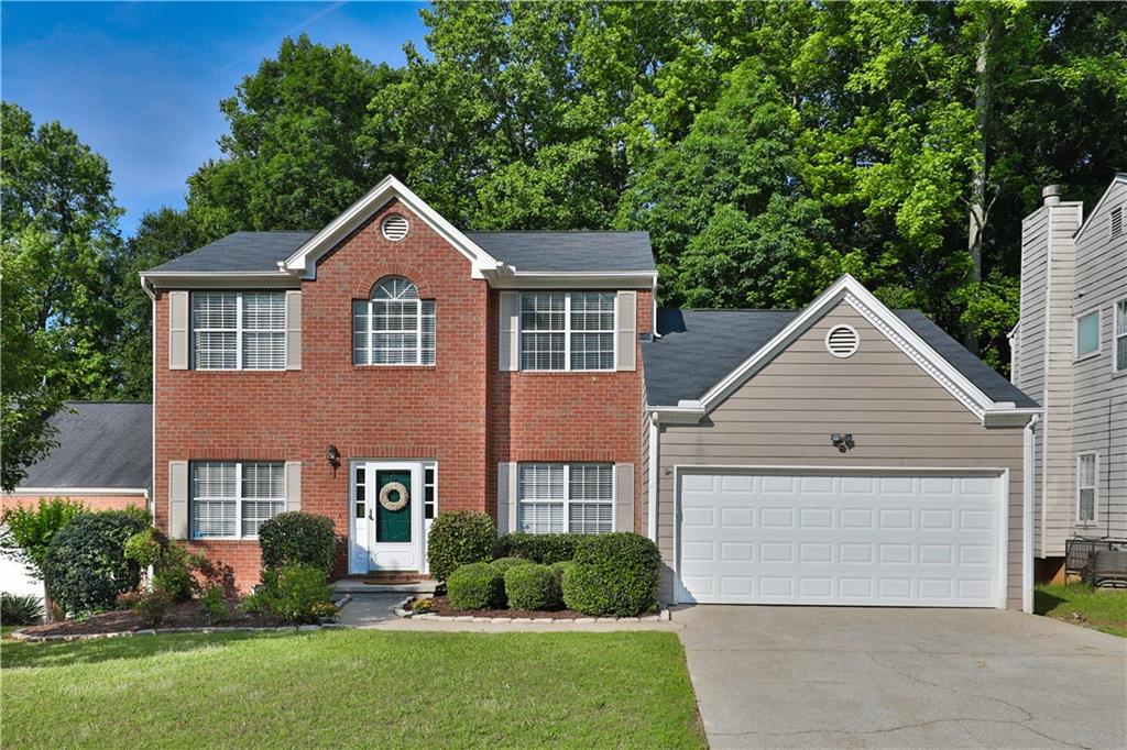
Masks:
[[[255,538],[285,507],[281,462],[193,462],[192,538]]]

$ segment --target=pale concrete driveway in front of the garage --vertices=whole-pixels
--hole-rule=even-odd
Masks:
[[[969,609],[674,613],[712,748],[1125,748],[1127,641]]]

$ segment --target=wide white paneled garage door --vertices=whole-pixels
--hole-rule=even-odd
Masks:
[[[1002,607],[1002,479],[678,473],[678,599]]]

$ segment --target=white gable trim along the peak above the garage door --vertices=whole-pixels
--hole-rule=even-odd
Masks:
[[[698,405],[708,413],[762,369],[780,352],[798,339],[810,325],[844,302],[858,311],[873,328],[884,333],[909,359],[920,365],[932,378],[958,399],[976,418],[984,419],[987,411],[997,413],[1010,404],[997,404],[959,370],[951,366],[938,351],[913,331],[904,321],[886,307],[855,278],[846,274],[823,292],[806,310],[788,323],[758,351],[745,359],[736,369],[713,385],[698,402],[682,407]]]

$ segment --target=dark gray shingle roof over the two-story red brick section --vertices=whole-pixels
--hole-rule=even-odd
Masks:
[[[150,271],[273,271],[316,232],[236,232]],[[653,271],[646,232],[467,232],[522,271]]]

